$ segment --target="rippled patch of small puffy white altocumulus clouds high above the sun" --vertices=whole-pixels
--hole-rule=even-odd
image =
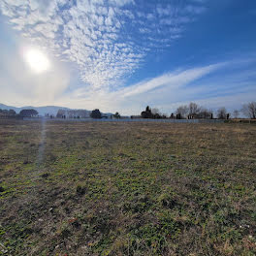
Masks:
[[[135,0],[1,0],[0,10],[33,45],[75,63],[88,92],[107,92],[140,68],[148,52],[170,47],[206,8],[192,0],[144,6]]]

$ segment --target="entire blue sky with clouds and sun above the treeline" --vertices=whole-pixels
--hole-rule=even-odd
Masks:
[[[0,0],[0,103],[138,114],[256,100],[255,0]]]

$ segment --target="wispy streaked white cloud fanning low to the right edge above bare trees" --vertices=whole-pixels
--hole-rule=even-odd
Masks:
[[[80,88],[72,95],[61,98],[58,104],[65,102],[72,106],[76,103],[76,106],[80,107],[86,102],[86,106],[90,109],[100,108],[104,112],[119,110],[123,114],[140,113],[147,105],[171,113],[177,106],[191,101],[196,101],[208,108],[219,106],[240,108],[240,104],[245,99],[253,100],[256,93],[255,84],[251,80],[244,83],[248,76],[255,77],[255,72],[244,70],[237,74],[236,67],[242,62],[244,62],[242,69],[246,70],[247,61],[242,59],[237,61],[237,64],[226,61],[179,69],[113,92],[100,91],[94,95],[93,99],[86,89]],[[254,62],[250,64],[254,65]],[[236,100],[232,101],[232,97]]]

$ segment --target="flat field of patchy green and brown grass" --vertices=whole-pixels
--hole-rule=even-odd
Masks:
[[[0,255],[255,255],[256,126],[0,120]]]

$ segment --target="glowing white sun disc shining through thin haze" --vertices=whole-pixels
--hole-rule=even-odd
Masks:
[[[35,73],[48,71],[50,62],[46,54],[36,48],[27,49],[24,52],[24,59],[30,69]]]

